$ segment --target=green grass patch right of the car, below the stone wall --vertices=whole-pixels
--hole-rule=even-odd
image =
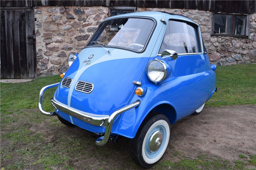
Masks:
[[[256,64],[217,66],[217,93],[205,106],[245,105],[256,103]]]

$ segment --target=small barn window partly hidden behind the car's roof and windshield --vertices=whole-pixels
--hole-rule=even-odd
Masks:
[[[136,12],[136,7],[109,7],[109,17],[132,12]],[[110,25],[110,31],[118,31],[118,27],[116,25]]]

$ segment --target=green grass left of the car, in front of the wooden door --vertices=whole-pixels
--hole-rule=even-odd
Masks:
[[[26,83],[1,83],[1,114],[13,109],[29,109],[38,107],[39,92],[42,87],[61,81],[59,75],[41,77]],[[50,99],[57,87],[47,89],[44,93],[43,106],[46,111],[53,111]]]

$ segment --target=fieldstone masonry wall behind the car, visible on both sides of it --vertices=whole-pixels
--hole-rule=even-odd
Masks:
[[[211,64],[256,63],[256,14],[250,16],[249,38],[234,38],[211,36],[210,11],[166,8],[136,11],[166,11],[194,20],[200,25]],[[35,17],[38,77],[45,77],[67,71],[67,56],[82,50],[98,25],[108,18],[108,7],[35,7]]]

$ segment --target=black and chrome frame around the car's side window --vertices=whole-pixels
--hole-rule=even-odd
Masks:
[[[195,31],[196,31],[196,38],[197,38],[197,45],[198,45],[198,50],[199,50],[199,52],[198,52],[198,53],[177,53],[178,55],[194,55],[194,54],[202,54],[202,53],[203,53],[203,52],[202,52],[203,50],[202,50],[202,48],[201,48],[201,45],[202,45],[202,44],[201,44],[201,40],[200,40],[201,33],[200,33],[200,31],[198,30],[199,25],[194,24],[194,23],[189,22],[189,21],[179,20],[179,19],[173,19],[173,18],[168,19],[168,22],[169,22],[169,21],[185,22],[186,24],[188,24],[188,25],[190,25],[191,27],[193,27],[193,28],[195,29]],[[168,22],[167,22],[166,25],[168,25]],[[165,32],[166,32],[166,30],[167,30],[167,27],[166,27],[166,29],[165,29]],[[165,32],[164,32],[164,35],[165,35]],[[159,46],[157,56],[161,56],[161,54],[159,53],[159,50],[160,50],[160,48],[161,48],[161,46],[162,46],[162,43],[163,43],[163,41],[164,41],[164,35],[163,35],[163,39],[162,39],[161,45]]]

